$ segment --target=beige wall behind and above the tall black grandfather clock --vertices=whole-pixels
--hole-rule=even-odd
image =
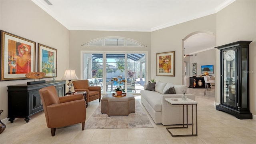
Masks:
[[[239,40],[253,40],[249,45],[250,112],[256,115],[256,1],[236,0],[217,13],[216,45],[221,46]],[[220,54],[216,53],[216,83],[220,83]],[[216,94],[220,88],[216,87]],[[216,97],[220,102],[220,97]]]

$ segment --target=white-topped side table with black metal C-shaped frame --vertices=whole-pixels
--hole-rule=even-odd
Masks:
[[[178,137],[178,136],[197,136],[197,102],[194,100],[191,100],[187,98],[186,100],[182,100],[182,98],[175,98],[177,101],[172,100],[173,98],[165,98],[167,102],[169,102],[172,105],[183,105],[183,126],[182,127],[168,127],[166,128],[168,132],[172,135],[172,137]],[[184,106],[186,105],[186,124],[184,122]],[[170,132],[169,129],[174,128],[188,128],[188,105],[191,105],[192,107],[192,134],[183,134],[183,135],[173,135],[172,132]],[[194,105],[196,107],[196,134],[194,134]]]

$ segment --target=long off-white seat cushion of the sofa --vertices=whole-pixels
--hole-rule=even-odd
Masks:
[[[150,90],[141,90],[140,94],[156,112],[160,112],[162,110],[162,94],[159,92],[152,92]]]

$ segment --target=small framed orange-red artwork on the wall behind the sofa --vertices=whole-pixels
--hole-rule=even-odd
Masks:
[[[156,54],[156,76],[174,76],[174,52]]]

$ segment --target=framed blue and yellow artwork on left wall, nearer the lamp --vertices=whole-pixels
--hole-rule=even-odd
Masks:
[[[45,72],[45,78],[52,77],[52,71],[57,77],[57,50],[38,44],[38,72]]]

